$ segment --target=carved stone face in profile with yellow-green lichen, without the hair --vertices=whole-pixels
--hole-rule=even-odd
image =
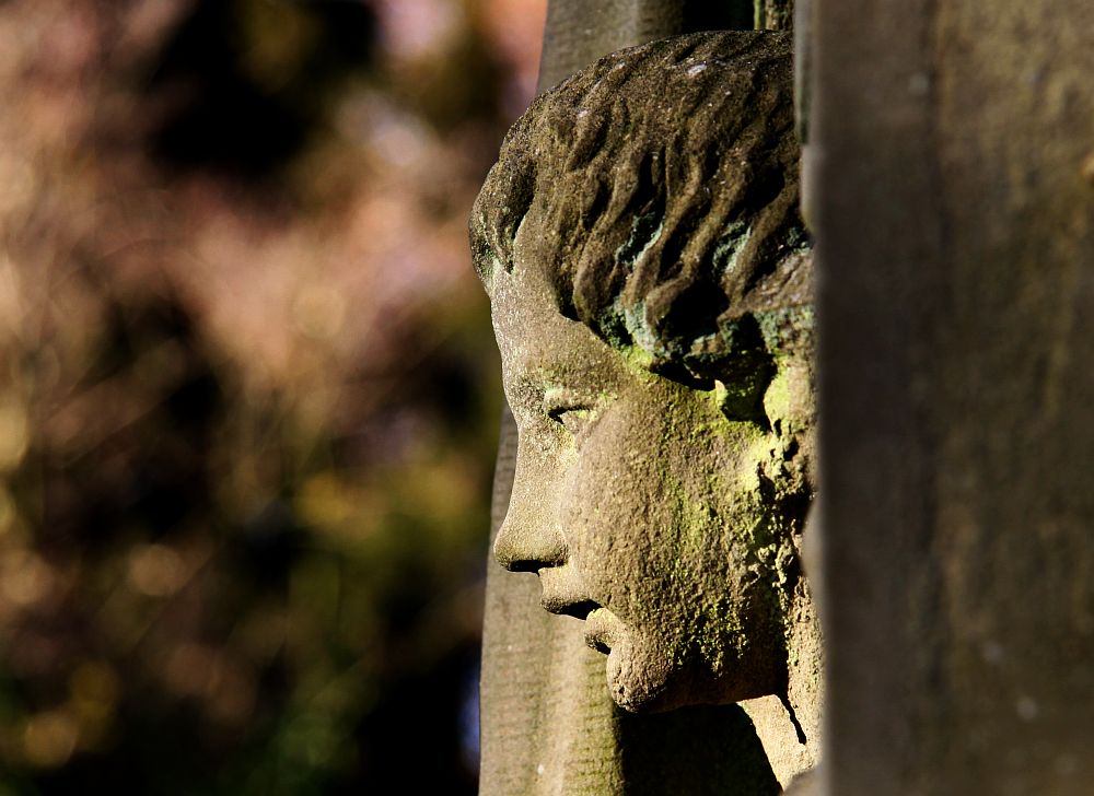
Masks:
[[[772,500],[793,488],[787,441],[728,420],[718,390],[651,374],[548,295],[531,269],[493,286],[520,430],[494,554],[538,573],[545,609],[585,620],[624,707],[777,692],[795,554]],[[772,412],[791,389],[807,384],[769,388]]]

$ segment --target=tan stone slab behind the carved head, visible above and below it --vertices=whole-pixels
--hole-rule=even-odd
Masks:
[[[752,0],[550,0],[539,90],[615,49],[703,30],[750,28]],[[504,518],[516,430],[502,419],[491,546]],[[775,794],[750,719],[735,705],[633,717],[615,707],[580,622],[539,607],[532,575],[488,564],[482,634],[484,796]]]

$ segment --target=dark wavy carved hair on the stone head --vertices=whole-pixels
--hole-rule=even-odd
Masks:
[[[652,371],[766,383],[776,349],[810,344],[791,50],[778,33],[682,36],[540,95],[473,210],[487,290],[496,269],[540,267],[563,315]]]

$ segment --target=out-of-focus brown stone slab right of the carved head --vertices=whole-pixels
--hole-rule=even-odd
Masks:
[[[1094,4],[815,11],[828,789],[1091,793]]]

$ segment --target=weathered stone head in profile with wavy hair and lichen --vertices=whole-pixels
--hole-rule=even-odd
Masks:
[[[781,693],[814,492],[791,45],[698,34],[538,97],[476,201],[520,430],[494,554],[632,711]]]

